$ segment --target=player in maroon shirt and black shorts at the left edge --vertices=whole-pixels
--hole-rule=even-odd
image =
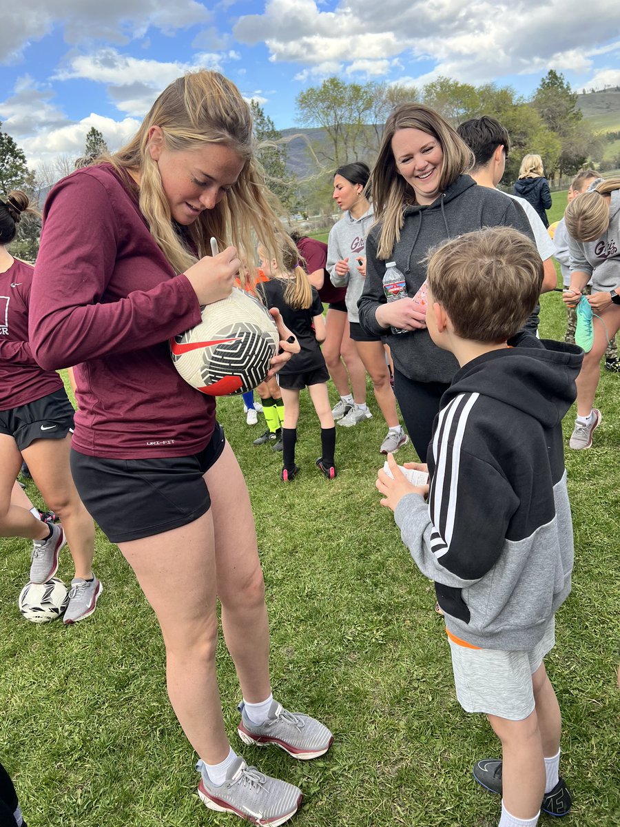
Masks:
[[[58,569],[65,538],[75,577],[64,622],[93,614],[102,586],[93,575],[95,529],[69,469],[74,409],[60,376],[36,364],[28,342],[28,306],[33,268],[14,259],[6,246],[21,213],[31,210],[14,190],[0,200],[0,536],[33,541],[30,580],[45,583]],[[12,503],[15,479],[25,460],[45,502],[62,525],[41,522]]]

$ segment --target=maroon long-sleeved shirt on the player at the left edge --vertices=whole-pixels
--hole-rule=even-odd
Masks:
[[[55,370],[36,364],[28,344],[28,303],[34,268],[13,261],[0,273],[0,410],[18,408],[63,387]]]

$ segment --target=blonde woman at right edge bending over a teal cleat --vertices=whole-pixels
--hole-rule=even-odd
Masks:
[[[620,329],[620,178],[603,181],[571,201],[565,212],[565,226],[569,233],[570,287],[563,298],[569,305],[581,302],[578,324],[581,315],[582,324],[592,325],[592,344],[577,377],[577,419],[569,443],[579,451],[591,447],[592,434],[601,423],[601,412],[593,408],[600,361]],[[582,299],[581,290],[590,279],[592,294]]]

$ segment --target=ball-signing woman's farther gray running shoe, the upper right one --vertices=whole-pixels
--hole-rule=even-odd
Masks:
[[[302,761],[327,753],[334,739],[327,726],[301,712],[287,712],[277,700],[272,702],[264,724],[253,724],[250,721],[245,704],[241,703],[238,710],[241,712],[241,723],[237,732],[243,743],[255,744],[257,747],[267,747],[274,743],[276,747],[284,749],[285,753]]]

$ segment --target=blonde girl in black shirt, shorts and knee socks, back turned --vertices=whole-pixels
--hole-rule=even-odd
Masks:
[[[295,464],[295,443],[299,419],[299,392],[308,388],[310,399],[321,423],[321,456],[316,465],[328,480],[336,476],[334,450],[336,428],[327,395],[329,373],[323,358],[321,342],[325,341],[323,307],[317,289],[308,281],[308,275],[298,266],[298,255],[284,248],[283,267],[266,246],[259,247],[260,266],[270,280],[259,285],[259,291],[269,308],[278,308],[284,323],[297,336],[301,351],[279,371],[278,381],[284,401],[282,428],[282,472],[284,482],[294,480],[299,468]]]

